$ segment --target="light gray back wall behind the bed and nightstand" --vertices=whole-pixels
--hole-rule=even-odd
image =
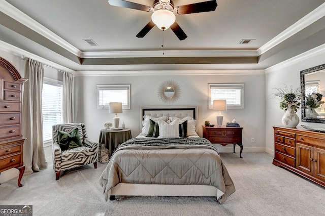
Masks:
[[[175,72],[176,73],[176,72]],[[114,114],[108,110],[96,109],[96,85],[131,84],[131,110],[118,114],[120,124],[131,128],[132,137],[140,133],[140,106],[167,105],[157,95],[159,85],[166,80],[176,81],[181,88],[180,99],[171,105],[198,106],[198,134],[202,137],[205,120],[216,124],[216,112],[208,109],[208,83],[244,83],[244,109],[229,109],[223,112],[223,124],[234,118],[243,129],[244,151],[265,151],[265,75],[148,75],[148,76],[76,76],[76,119],[86,124],[90,139],[99,140],[101,129]],[[255,143],[251,143],[255,138]],[[232,146],[221,147],[221,151],[231,151]],[[237,147],[238,148],[238,147]],[[237,150],[238,151],[238,150]],[[245,155],[243,154],[243,157]]]

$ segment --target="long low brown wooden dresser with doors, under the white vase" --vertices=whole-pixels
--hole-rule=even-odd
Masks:
[[[325,186],[325,134],[302,127],[273,128],[273,164]]]

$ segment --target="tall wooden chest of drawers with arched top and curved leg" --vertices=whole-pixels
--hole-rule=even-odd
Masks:
[[[22,145],[26,138],[21,134],[22,87],[16,68],[0,57],[0,174],[10,168],[18,168],[18,186],[24,174]]]

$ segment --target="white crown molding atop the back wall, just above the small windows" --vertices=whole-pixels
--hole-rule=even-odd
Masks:
[[[76,71],[76,76],[264,75],[265,70]]]

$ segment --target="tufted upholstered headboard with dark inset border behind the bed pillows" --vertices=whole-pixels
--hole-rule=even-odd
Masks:
[[[151,115],[153,117],[161,116],[175,116],[184,118],[190,116],[198,120],[198,107],[197,106],[144,106],[140,107],[140,128],[142,128],[142,121],[144,115]],[[198,125],[197,125],[198,129]]]

